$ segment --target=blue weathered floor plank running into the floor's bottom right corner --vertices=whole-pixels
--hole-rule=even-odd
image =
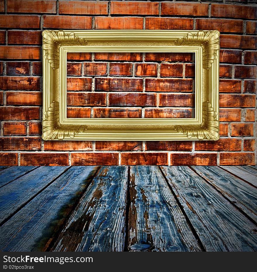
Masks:
[[[161,167],[206,251],[256,251],[256,225],[189,167]]]

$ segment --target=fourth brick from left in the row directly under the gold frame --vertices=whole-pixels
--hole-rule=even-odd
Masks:
[[[146,141],[145,150],[192,151],[192,141]]]

